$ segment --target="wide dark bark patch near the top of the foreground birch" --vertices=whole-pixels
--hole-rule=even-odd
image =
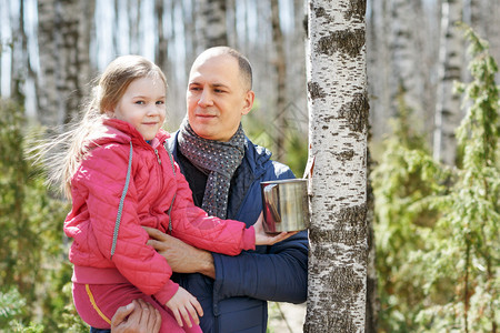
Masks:
[[[320,54],[332,56],[336,51],[346,53],[352,58],[358,57],[364,46],[364,30],[341,30],[330,32],[321,37],[316,47]]]

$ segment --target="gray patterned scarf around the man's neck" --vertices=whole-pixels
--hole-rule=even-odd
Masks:
[[[179,131],[181,153],[199,170],[208,174],[201,208],[209,215],[227,218],[231,178],[244,154],[244,133],[240,127],[228,142],[207,140],[192,130],[186,118]]]

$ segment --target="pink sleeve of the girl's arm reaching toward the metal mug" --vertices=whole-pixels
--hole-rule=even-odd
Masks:
[[[209,216],[194,205],[184,175],[176,167],[177,196],[172,209],[172,235],[199,249],[228,255],[256,249],[253,226],[242,222]]]

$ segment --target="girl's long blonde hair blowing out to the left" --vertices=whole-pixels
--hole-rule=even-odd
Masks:
[[[132,81],[146,77],[162,80],[167,91],[163,72],[151,61],[140,56],[122,56],[114,59],[92,89],[81,120],[56,140],[46,143],[46,148],[39,151],[40,155],[44,155],[48,151],[54,151],[57,147],[56,153],[49,158],[47,157],[50,154],[46,155],[51,170],[49,181],[59,183],[68,198],[71,196],[71,178],[89,152],[90,143],[106,137],[107,129],[102,122],[107,118],[106,112],[114,109]]]

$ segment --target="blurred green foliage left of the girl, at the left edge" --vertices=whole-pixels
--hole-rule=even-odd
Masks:
[[[0,330],[61,331],[63,315],[76,315],[62,287],[71,279],[62,233],[69,206],[47,189],[26,144],[22,108],[0,100]]]

